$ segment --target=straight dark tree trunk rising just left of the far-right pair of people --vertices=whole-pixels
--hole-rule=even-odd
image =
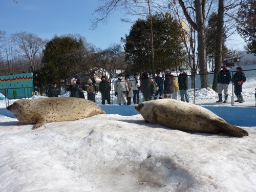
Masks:
[[[214,75],[214,82],[212,85],[212,89],[216,92],[218,89],[218,73],[221,70],[221,62],[222,62],[223,25],[224,25],[223,18],[224,18],[224,0],[219,0],[217,40],[216,40],[216,51],[215,51],[215,70],[214,70],[215,75]]]

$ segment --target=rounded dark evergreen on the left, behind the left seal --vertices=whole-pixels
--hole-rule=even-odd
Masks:
[[[54,36],[43,50],[44,67],[39,71],[43,84],[75,76],[82,58],[83,41],[70,36]]]

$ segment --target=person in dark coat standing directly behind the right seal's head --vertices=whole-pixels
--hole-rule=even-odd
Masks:
[[[153,92],[152,92],[152,82],[153,80],[148,78],[147,72],[142,73],[141,79],[141,93],[143,94],[143,98],[145,101],[152,100]]]

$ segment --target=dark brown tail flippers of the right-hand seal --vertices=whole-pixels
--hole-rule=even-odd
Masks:
[[[241,127],[231,125],[227,122],[223,122],[218,125],[220,127],[220,133],[226,133],[233,137],[244,137],[248,136],[248,132]]]

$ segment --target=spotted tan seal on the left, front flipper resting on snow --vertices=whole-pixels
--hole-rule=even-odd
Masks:
[[[96,103],[75,97],[20,99],[7,107],[23,123],[36,123],[33,129],[49,122],[73,121],[106,114]]]

